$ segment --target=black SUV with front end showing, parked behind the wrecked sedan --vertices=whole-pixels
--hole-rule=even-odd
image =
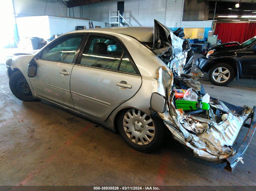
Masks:
[[[207,72],[211,83],[229,84],[235,76],[256,79],[256,36],[244,43],[229,42],[212,46],[198,58],[196,67]]]

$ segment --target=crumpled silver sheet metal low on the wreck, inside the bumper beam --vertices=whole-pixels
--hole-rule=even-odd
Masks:
[[[201,117],[187,116],[180,110],[174,112],[176,115],[170,114],[163,120],[175,140],[192,149],[194,157],[218,164],[225,162],[226,158],[236,152],[233,145],[241,127],[248,119],[248,113],[252,110],[247,107],[242,116],[235,116],[229,112],[227,118],[221,123]],[[176,126],[173,126],[170,121],[174,121]]]

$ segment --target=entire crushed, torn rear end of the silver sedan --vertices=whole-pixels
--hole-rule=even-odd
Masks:
[[[255,106],[238,107],[210,97],[209,108],[201,109],[201,84],[197,79],[202,74],[185,74],[186,60],[191,60],[184,46],[182,31],[170,31],[155,20],[154,44],[151,50],[166,64],[156,71],[158,87],[151,97],[151,115],[160,117],[170,130],[173,138],[181,143],[194,157],[212,163],[227,162],[225,169],[234,170],[246,151],[255,132]],[[183,45],[183,46],[182,46]],[[178,98],[175,89],[191,88],[198,96],[196,109],[177,107]],[[156,93],[157,92],[157,93]],[[188,103],[188,102],[186,102]],[[199,105],[198,105],[199,104]],[[251,118],[251,124],[246,121]],[[248,127],[248,133],[241,146],[234,144],[242,127]]]

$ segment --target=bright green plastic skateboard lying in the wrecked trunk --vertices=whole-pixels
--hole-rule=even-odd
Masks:
[[[175,103],[176,103],[177,109],[182,108],[184,111],[198,110],[198,108],[196,107],[198,101],[175,100]],[[209,110],[210,109],[209,103],[204,103],[204,102],[201,102],[201,103],[202,103],[202,110]]]

